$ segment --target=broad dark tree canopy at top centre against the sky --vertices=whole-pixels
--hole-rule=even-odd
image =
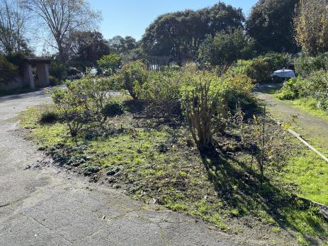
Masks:
[[[243,21],[242,9],[222,2],[198,11],[167,13],[150,24],[141,43],[147,55],[171,56],[181,64],[196,59],[206,35],[242,27]]]

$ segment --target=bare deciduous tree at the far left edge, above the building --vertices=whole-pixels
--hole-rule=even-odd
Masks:
[[[0,0],[0,50],[6,54],[27,51],[28,14],[19,0]]]

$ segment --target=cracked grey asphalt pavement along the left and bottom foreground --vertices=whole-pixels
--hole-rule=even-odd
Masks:
[[[0,245],[261,245],[55,165],[26,169],[45,156],[19,134],[15,116],[47,101],[45,90],[0,97]]]

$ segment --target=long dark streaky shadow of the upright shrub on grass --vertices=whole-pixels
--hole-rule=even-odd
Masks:
[[[297,226],[288,223],[286,213],[283,211],[288,208],[306,211],[310,208],[310,203],[304,201],[300,203],[301,200],[297,196],[276,187],[266,178],[261,182],[260,174],[232,155],[225,155],[220,150],[211,149],[200,152],[200,157],[208,172],[208,179],[213,183],[217,195],[225,201],[227,207],[237,209],[239,216],[248,212],[261,216],[256,215],[256,211],[259,209],[266,211],[281,228],[291,227],[301,233]],[[324,228],[317,221],[312,218],[306,220],[308,226],[317,232],[324,233]],[[303,236],[306,237],[306,235]],[[310,240],[310,238],[307,239]],[[319,245],[318,242],[310,241],[312,245]]]

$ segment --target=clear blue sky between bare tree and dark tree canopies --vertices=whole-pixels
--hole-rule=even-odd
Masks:
[[[103,21],[99,23],[104,38],[115,35],[131,35],[139,40],[147,26],[162,13],[202,9],[213,6],[219,0],[89,0],[91,7],[100,10]],[[243,9],[249,14],[256,0],[224,0],[225,3]]]

